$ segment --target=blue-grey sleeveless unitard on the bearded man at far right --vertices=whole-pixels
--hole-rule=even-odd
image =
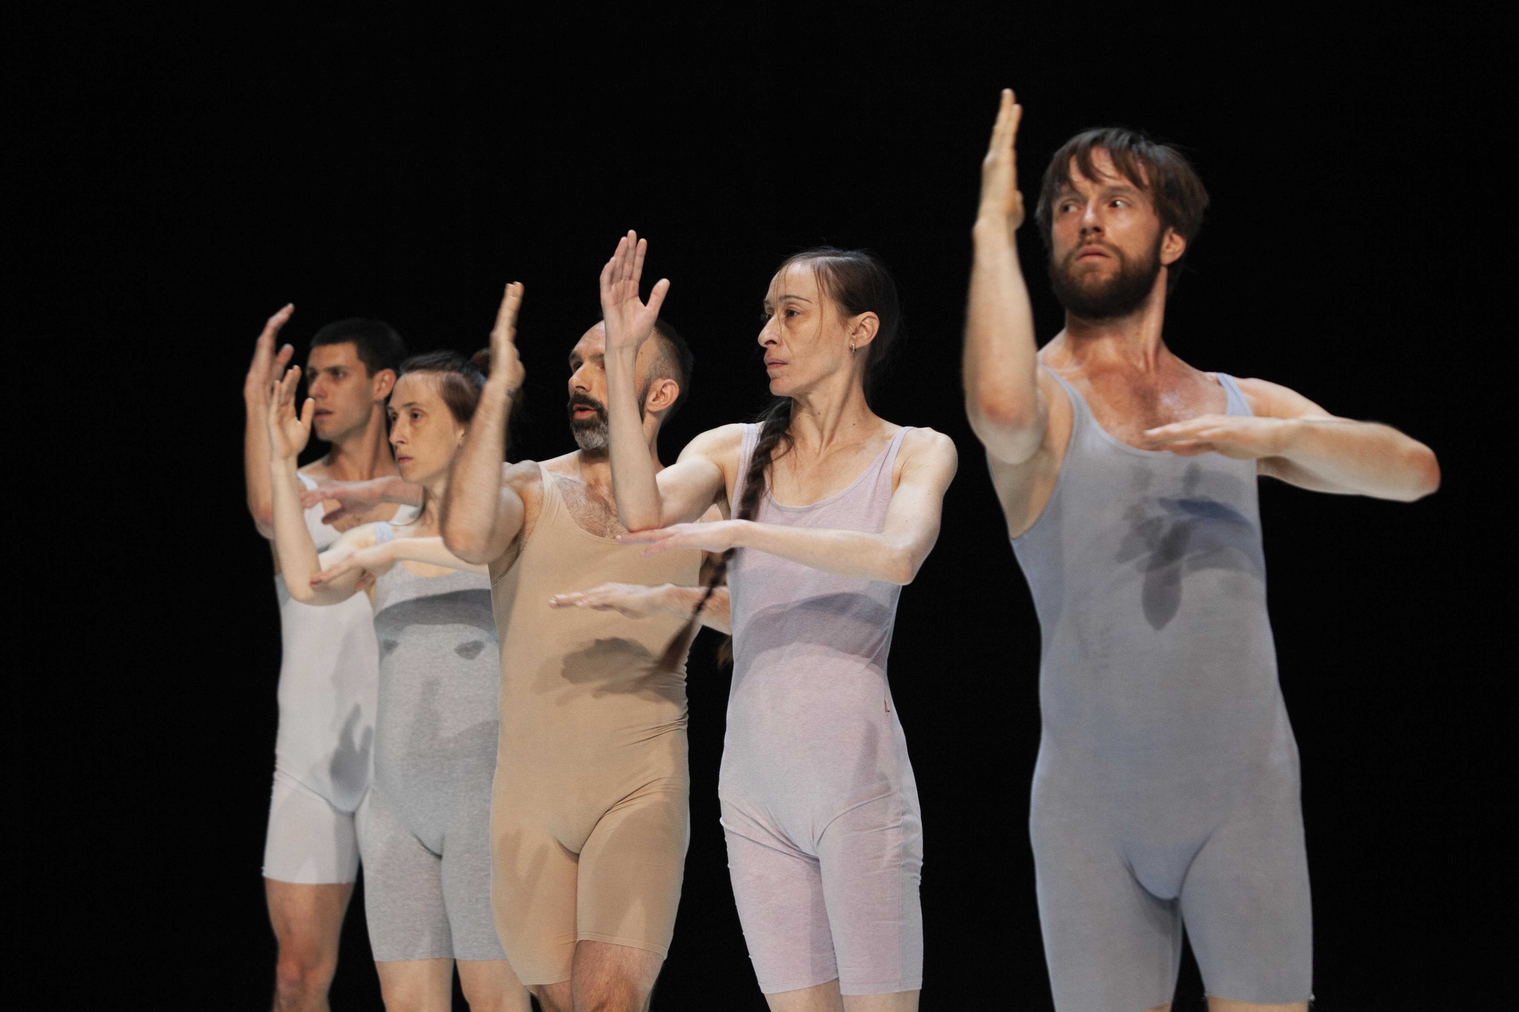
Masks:
[[[1030,833],[1056,1007],[1171,1001],[1183,924],[1208,994],[1302,1001],[1308,862],[1256,463],[1129,446],[1056,379],[1071,442],[1013,539],[1044,634]]]

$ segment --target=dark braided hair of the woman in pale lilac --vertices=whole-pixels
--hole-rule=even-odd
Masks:
[[[851,319],[861,313],[875,313],[881,320],[875,332],[875,340],[866,344],[864,349],[864,394],[869,401],[873,381],[886,366],[902,331],[902,310],[892,272],[880,256],[869,250],[817,246],[788,256],[775,273],[781,276],[797,264],[807,264],[813,269],[819,290],[828,294],[842,317]],[[793,404],[791,398],[776,398],[755,417],[755,422],[760,425],[760,438],[755,442],[755,451],[749,457],[749,469],[740,482],[741,490],[732,513],[735,520],[752,520],[760,513],[760,496],[767,487],[766,472],[770,470],[778,457],[776,449],[779,448],[779,455],[785,455],[785,451],[791,446]],[[706,592],[691,610],[691,618],[685,627],[676,633],[659,657],[659,668],[664,671],[676,671],[679,668],[681,658],[696,637],[702,608],[706,607],[706,602],[712,599],[717,587],[728,577],[728,564],[732,561],[735,551],[729,548],[717,560],[717,564],[712,566],[706,580]],[[720,663],[732,663],[732,645],[734,637],[729,636],[718,646],[717,658]]]

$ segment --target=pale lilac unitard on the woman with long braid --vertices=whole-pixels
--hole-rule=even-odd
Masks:
[[[738,473],[760,426],[746,425]],[[880,533],[901,429],[848,489],[764,523]],[[734,490],[734,501],[743,489]],[[886,658],[901,587],[738,549],[734,684],[718,775],[728,865],[766,994],[922,986],[917,786]]]

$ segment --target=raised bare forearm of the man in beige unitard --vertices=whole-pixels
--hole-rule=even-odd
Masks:
[[[523,530],[526,508],[516,490],[501,481],[506,463],[506,425],[512,398],[523,385],[523,363],[516,355],[516,311],[523,285],[506,287],[491,331],[491,376],[480,391],[480,405],[469,422],[465,443],[454,455],[444,495],[444,545],[466,563],[489,566],[506,554]]]

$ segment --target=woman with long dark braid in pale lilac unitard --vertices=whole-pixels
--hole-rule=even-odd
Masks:
[[[629,235],[602,276],[617,507],[633,531],[623,540],[731,563],[718,790],[760,988],[772,1009],[916,1009],[922,834],[886,660],[901,584],[939,536],[954,443],[870,411],[896,288],[869,253],[820,249],[782,264],[766,299],[760,343],[779,399],[758,425],[699,435],[656,476],[647,451],[629,452],[641,448],[633,358],[665,288],[638,300],[641,259]],[[735,519],[691,523],[714,502]]]

